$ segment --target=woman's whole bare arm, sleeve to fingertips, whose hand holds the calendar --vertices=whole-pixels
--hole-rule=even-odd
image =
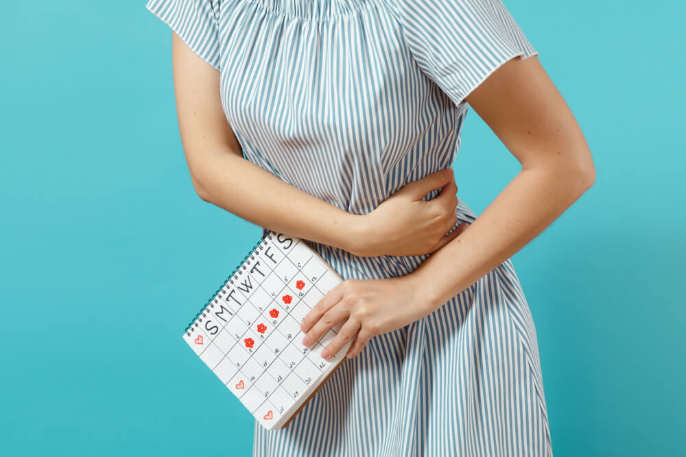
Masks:
[[[464,232],[412,273],[345,280],[304,317],[303,345],[345,323],[322,357],[348,357],[370,338],[430,314],[505,262],[593,185],[591,153],[567,104],[534,56],[514,58],[466,99],[522,164],[522,171]]]

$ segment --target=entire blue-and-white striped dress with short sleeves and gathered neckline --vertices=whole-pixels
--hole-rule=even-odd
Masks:
[[[354,214],[451,166],[464,97],[508,60],[538,55],[501,0],[146,8],[220,71],[246,160]],[[456,212],[455,227],[475,220],[462,198]],[[406,275],[429,257],[358,257],[305,241],[344,279]],[[253,444],[256,457],[552,456],[536,331],[511,260],[371,338],[286,428],[256,422]]]

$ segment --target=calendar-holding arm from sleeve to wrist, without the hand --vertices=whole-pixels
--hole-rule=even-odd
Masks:
[[[431,312],[543,232],[595,181],[584,136],[538,58],[514,58],[466,98],[522,169],[455,240],[410,273]]]

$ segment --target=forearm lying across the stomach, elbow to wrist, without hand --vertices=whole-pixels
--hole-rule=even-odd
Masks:
[[[362,215],[314,197],[236,153],[215,155],[196,169],[202,199],[283,234],[354,251]]]

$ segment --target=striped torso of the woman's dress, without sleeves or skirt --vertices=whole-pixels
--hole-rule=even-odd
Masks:
[[[250,162],[352,214],[453,163],[468,107],[419,69],[386,0],[222,0],[219,21],[222,106]],[[306,241],[344,278],[405,275],[428,256]]]

